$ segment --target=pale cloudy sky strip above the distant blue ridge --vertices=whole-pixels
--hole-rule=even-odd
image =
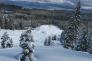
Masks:
[[[8,1],[8,0],[0,0],[0,1]],[[11,1],[28,1],[28,2],[49,2],[49,3],[65,3],[69,2],[72,4],[76,4],[78,0],[11,0]],[[82,6],[92,7],[92,0],[80,0]]]

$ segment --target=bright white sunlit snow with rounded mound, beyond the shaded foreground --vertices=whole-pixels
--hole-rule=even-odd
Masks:
[[[0,30],[0,38],[3,35],[4,32],[8,32],[9,36],[14,41],[14,46],[19,45],[19,39],[21,33],[25,32],[25,30]],[[37,28],[35,28],[32,31],[32,35],[34,37],[34,40],[36,41],[36,45],[43,45],[44,40],[52,35],[60,35],[62,30],[60,30],[58,27],[53,25],[42,25]],[[0,39],[1,41],[1,39]]]

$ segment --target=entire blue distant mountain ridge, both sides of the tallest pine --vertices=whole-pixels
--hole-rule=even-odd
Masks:
[[[46,9],[46,10],[74,10],[75,9],[75,4],[73,5],[73,3],[70,0],[64,3],[42,3],[42,2],[11,1],[11,0],[0,0],[0,1],[3,1],[1,3],[4,3],[4,4],[22,6],[23,8],[29,8],[29,9]],[[81,10],[84,12],[92,12],[91,9],[81,9]]]

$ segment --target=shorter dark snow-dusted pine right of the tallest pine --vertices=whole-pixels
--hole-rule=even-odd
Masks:
[[[87,52],[88,47],[89,47],[88,42],[89,42],[88,32],[83,30],[82,35],[81,35],[79,42],[77,44],[76,50]]]

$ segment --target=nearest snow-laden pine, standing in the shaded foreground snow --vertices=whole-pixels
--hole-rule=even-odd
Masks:
[[[29,58],[30,61],[34,58],[34,40],[32,37],[31,29],[27,30],[26,32],[21,34],[20,37],[20,47],[23,49],[22,54],[23,56],[20,57],[24,60],[26,57]]]

